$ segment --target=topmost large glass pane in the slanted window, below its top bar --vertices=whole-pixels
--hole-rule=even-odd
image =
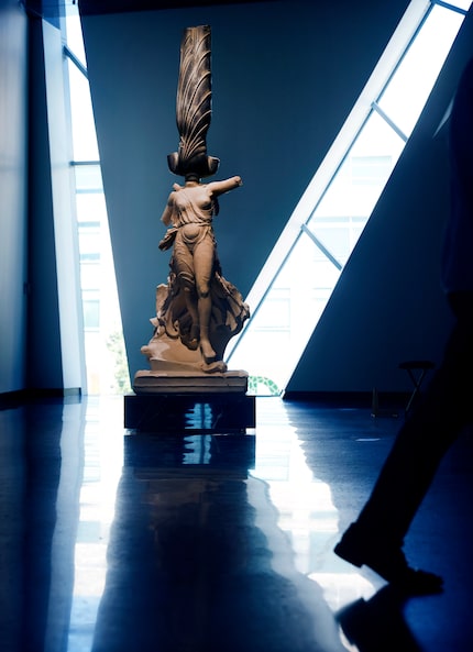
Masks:
[[[435,5],[378,100],[406,136],[416,125],[463,18]]]

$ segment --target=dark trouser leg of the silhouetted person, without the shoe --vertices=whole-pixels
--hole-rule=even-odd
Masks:
[[[449,296],[455,317],[443,361],[400,428],[358,526],[389,545],[404,538],[449,446],[472,422],[473,292]]]

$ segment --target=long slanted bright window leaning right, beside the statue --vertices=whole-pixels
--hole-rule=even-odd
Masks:
[[[253,317],[228,362],[248,369],[252,393],[285,390],[470,5],[414,0],[407,8],[246,299]]]

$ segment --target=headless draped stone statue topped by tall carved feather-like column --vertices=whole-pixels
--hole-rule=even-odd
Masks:
[[[169,276],[156,289],[154,333],[142,347],[156,373],[224,374],[226,346],[250,317],[239,290],[222,276],[212,228],[218,198],[242,180],[202,181],[220,163],[207,155],[210,118],[210,27],[188,27],[176,101],[179,146],[167,157],[169,170],[183,176],[184,185],[173,185],[161,218],[168,229],[158,246],[172,250]]]

